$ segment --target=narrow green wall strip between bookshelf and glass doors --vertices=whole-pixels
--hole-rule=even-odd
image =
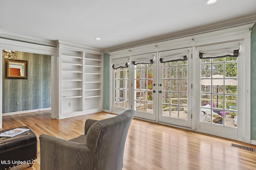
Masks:
[[[103,65],[103,109],[109,110],[110,108],[110,101],[109,101],[109,93],[110,93],[110,55],[108,53],[104,54],[104,65]]]

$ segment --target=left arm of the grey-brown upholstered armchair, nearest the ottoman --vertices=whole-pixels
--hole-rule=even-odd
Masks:
[[[40,139],[40,169],[92,169],[95,150],[86,143],[66,141],[42,134]],[[81,161],[81,158],[84,160]]]

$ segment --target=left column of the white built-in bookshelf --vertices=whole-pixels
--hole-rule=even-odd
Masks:
[[[82,111],[83,52],[62,49],[61,75],[62,114]]]

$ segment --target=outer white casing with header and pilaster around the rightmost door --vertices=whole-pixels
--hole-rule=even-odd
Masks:
[[[202,35],[198,35],[198,38],[194,38],[195,41],[195,47],[193,48],[193,61],[196,63],[196,47],[201,45],[210,45],[210,44],[217,44],[217,43],[226,43],[226,42],[232,42],[232,41],[242,41],[242,46],[240,49],[240,53],[243,53],[242,59],[240,58],[240,64],[239,67],[244,67],[244,70],[240,72],[242,75],[240,75],[240,84],[238,86],[244,86],[243,90],[238,91],[239,101],[240,102],[240,109],[244,108],[244,116],[238,117],[239,122],[239,128],[238,128],[238,134],[237,137],[227,137],[229,139],[234,139],[237,141],[243,141],[245,143],[250,143],[250,28],[254,24],[248,24],[243,25],[240,27],[234,27],[232,29],[225,29],[220,31],[214,31],[212,33],[205,33]],[[194,64],[193,67],[200,67],[199,64]],[[196,68],[193,68],[193,70],[196,70]],[[198,72],[193,73],[196,75],[200,75]],[[239,73],[238,73],[239,74]],[[239,75],[238,75],[239,76]],[[197,84],[200,80],[193,79],[193,84]],[[195,96],[193,101],[199,101],[200,96],[200,88],[196,88],[196,86],[193,86],[193,96]],[[200,108],[199,105],[194,103],[192,104],[192,107],[194,108],[194,113],[199,113]],[[200,117],[198,114],[195,115],[196,119],[193,120],[194,123],[192,126],[192,129],[198,132],[206,133],[203,129],[203,127],[199,128],[196,127],[196,121],[199,121]],[[228,132],[227,132],[228,133]],[[223,135],[213,134],[216,136],[226,137]]]

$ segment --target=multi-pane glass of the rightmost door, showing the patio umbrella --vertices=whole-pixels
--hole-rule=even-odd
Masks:
[[[200,59],[200,122],[237,127],[237,59]]]

